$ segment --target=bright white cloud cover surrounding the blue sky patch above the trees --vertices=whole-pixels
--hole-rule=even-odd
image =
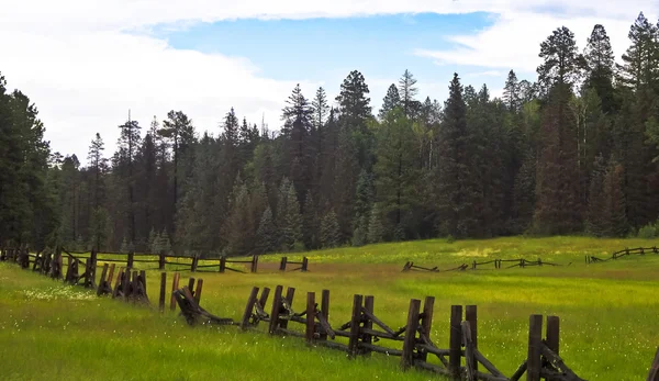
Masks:
[[[9,2],[9,3],[8,3]],[[230,107],[241,116],[279,126],[286,97],[300,81],[312,94],[319,83],[304,78],[281,81],[264,78],[246,58],[203,54],[170,47],[149,36],[156,24],[186,27],[196,22],[232,19],[309,19],[395,13],[499,14],[492,27],[470,36],[453,36],[460,44],[442,52],[418,51],[454,65],[482,66],[488,71],[520,68],[533,71],[537,46],[555,27],[566,24],[585,41],[595,22],[603,23],[616,53],[626,46],[626,32],[638,10],[656,14],[658,4],[627,0],[558,0],[551,13],[545,0],[9,0],[0,12],[0,70],[10,88],[23,90],[37,104],[54,149],[82,158],[93,134],[100,132],[113,150],[116,125],[132,116],[146,128],[153,115],[183,110],[200,131],[219,131]],[[545,7],[543,9],[543,7]],[[650,7],[652,9],[650,9]],[[584,16],[574,16],[584,14]],[[488,72],[484,71],[484,72]],[[372,104],[390,81],[371,82]],[[483,74],[484,75],[484,74]],[[424,93],[445,93],[446,83],[422,83]],[[332,85],[334,86],[334,85]],[[328,89],[331,92],[333,89]],[[333,98],[334,96],[332,96]]]

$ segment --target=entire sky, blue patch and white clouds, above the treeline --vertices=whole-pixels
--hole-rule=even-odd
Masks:
[[[334,103],[343,79],[364,74],[373,112],[405,69],[421,100],[443,102],[458,72],[500,96],[509,70],[534,80],[539,44],[569,27],[579,48],[604,25],[616,57],[647,0],[0,0],[0,74],[36,104],[53,150],[87,152],[98,132],[110,156],[129,117],[143,132],[170,110],[199,133],[221,133],[233,107],[281,127],[300,83]]]

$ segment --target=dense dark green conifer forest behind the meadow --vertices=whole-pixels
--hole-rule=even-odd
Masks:
[[[501,99],[457,74],[444,103],[424,99],[405,70],[375,114],[355,70],[334,102],[295,87],[277,133],[233,109],[200,133],[170,111],[119,125],[113,154],[90,134],[87,158],[52,153],[2,78],[0,240],[211,256],[637,234],[659,216],[658,27],[640,13],[617,63],[604,26],[583,51],[559,27]]]

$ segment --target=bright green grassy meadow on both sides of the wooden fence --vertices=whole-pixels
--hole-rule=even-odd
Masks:
[[[659,346],[659,256],[589,266],[583,259],[587,254],[607,257],[638,246],[659,246],[659,242],[582,237],[425,240],[306,253],[306,273],[279,273],[280,256],[269,256],[261,258],[256,274],[192,277],[204,280],[202,306],[235,320],[254,285],[294,287],[294,310],[302,309],[306,291],[316,291],[320,298],[322,289],[330,289],[333,325],[349,320],[355,293],[375,295],[376,315],[393,327],[405,324],[410,299],[433,295],[432,336],[443,347],[448,347],[450,305],[477,304],[479,348],[506,376],[526,357],[528,315],[554,314],[561,317],[561,357],[579,376],[641,380]],[[291,260],[294,257],[289,255]],[[400,271],[406,260],[447,269],[474,259],[520,257],[571,265]],[[183,278],[189,276],[181,272]],[[150,271],[147,279],[155,302],[159,274]],[[348,360],[338,351],[309,349],[302,339],[268,337],[263,324],[259,330],[190,328],[175,313],[159,315],[155,309],[97,299],[81,288],[65,287],[15,265],[0,265],[2,379],[438,379],[423,371],[400,372],[398,358],[375,355]]]

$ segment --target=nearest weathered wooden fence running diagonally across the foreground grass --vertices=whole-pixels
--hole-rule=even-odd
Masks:
[[[16,260],[23,266],[23,255]],[[56,262],[57,264],[57,262]],[[93,277],[88,277],[79,283],[74,273],[76,261],[70,262],[65,277],[55,277],[54,270],[62,270],[57,265],[51,271],[35,262],[33,271],[55,279],[64,278],[67,284],[80,284],[88,289],[96,289],[97,295],[111,295],[134,304],[150,305],[146,293],[146,271],[131,271],[121,268],[114,277],[115,264],[104,264],[98,285]],[[90,271],[88,267],[86,271]],[[114,285],[112,283],[114,282]],[[270,294],[269,288],[264,288],[259,295],[259,288],[254,287],[242,317],[235,321],[231,317],[215,316],[201,307],[201,292],[203,280],[190,278],[188,285],[179,288],[180,273],[175,272],[171,283],[170,309],[176,310],[178,304],[181,314],[189,325],[215,324],[238,326],[242,330],[252,330],[260,322],[267,323],[268,334],[303,337],[310,346],[323,346],[338,349],[348,354],[349,358],[370,356],[372,352],[400,357],[402,370],[418,368],[428,370],[451,381],[518,381],[526,374],[527,381],[584,381],[576,374],[566,361],[559,356],[560,318],[558,316],[530,315],[528,324],[528,345],[526,359],[517,370],[506,377],[478,349],[478,309],[476,305],[453,305],[450,320],[448,348],[442,348],[431,337],[434,317],[434,296],[421,300],[410,300],[406,324],[398,329],[386,324],[375,310],[375,296],[355,294],[349,320],[340,326],[330,324],[330,290],[322,290],[321,303],[316,303],[315,292],[306,293],[306,303],[301,312],[293,310],[294,288],[277,285],[272,298],[270,312],[266,312]],[[166,310],[167,302],[167,272],[160,274],[160,290],[158,309],[161,313]],[[544,323],[546,321],[546,328]],[[289,324],[297,323],[302,329],[295,329]],[[343,338],[343,343],[336,338]],[[398,343],[389,347],[380,344]],[[401,348],[402,345],[402,348]],[[435,358],[437,362],[428,361]],[[482,367],[482,368],[481,368]],[[659,348],[652,361],[647,381],[659,381]]]

